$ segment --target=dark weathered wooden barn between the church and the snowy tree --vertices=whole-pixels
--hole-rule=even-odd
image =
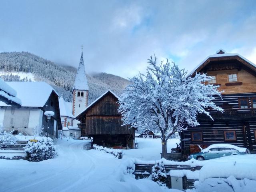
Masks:
[[[93,144],[112,148],[134,148],[135,130],[122,126],[118,96],[111,90],[90,104],[76,118],[81,121],[81,136],[93,138]]]

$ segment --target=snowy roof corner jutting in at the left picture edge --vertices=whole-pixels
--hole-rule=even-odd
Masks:
[[[0,99],[6,104],[10,104],[15,107],[21,106],[21,100],[16,97],[17,92],[4,80],[0,78]]]

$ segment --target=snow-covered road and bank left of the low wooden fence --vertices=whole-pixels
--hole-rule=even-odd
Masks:
[[[58,156],[42,162],[0,159],[0,192],[164,191],[151,180],[125,175],[127,159],[85,150],[88,144],[85,140],[59,140]]]

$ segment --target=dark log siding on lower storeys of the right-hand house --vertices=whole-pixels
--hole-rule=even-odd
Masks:
[[[229,143],[239,147],[246,147],[256,152],[256,108],[252,108],[250,98],[256,93],[227,94],[222,98],[216,97],[214,102],[224,108],[224,112],[208,110],[214,120],[206,115],[198,115],[199,126],[189,127],[181,134],[182,147],[189,153],[199,152],[200,145],[206,148],[211,144]],[[239,98],[248,98],[250,108],[239,108]],[[235,131],[236,141],[225,141],[224,131]],[[192,141],[192,132],[201,132],[202,141]]]

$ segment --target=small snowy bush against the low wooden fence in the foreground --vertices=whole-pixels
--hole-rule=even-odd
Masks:
[[[163,162],[156,163],[152,168],[152,180],[160,186],[166,186],[166,171]]]

